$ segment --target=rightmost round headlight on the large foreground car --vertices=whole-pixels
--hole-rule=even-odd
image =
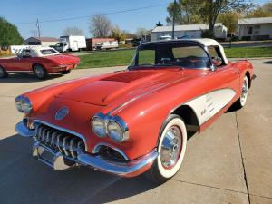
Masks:
[[[121,126],[116,121],[109,121],[107,130],[112,141],[121,142],[127,139],[125,132],[121,129]]]

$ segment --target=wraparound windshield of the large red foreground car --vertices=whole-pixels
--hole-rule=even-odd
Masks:
[[[189,69],[210,67],[208,54],[198,44],[167,42],[144,44],[135,54],[130,68],[180,66]]]

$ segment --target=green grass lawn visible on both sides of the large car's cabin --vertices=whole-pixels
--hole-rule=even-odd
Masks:
[[[98,68],[126,66],[131,63],[135,50],[92,53],[80,56],[78,68]],[[234,47],[225,48],[228,58],[272,57],[272,47]]]

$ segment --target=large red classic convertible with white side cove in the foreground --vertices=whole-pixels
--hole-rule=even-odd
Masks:
[[[180,169],[188,137],[235,104],[255,78],[211,39],[141,44],[127,70],[58,83],[15,99],[33,155],[63,170],[83,165],[157,183]]]

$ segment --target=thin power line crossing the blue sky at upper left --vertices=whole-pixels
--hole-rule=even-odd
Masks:
[[[149,5],[149,6],[144,6],[144,7],[138,7],[138,8],[131,8],[127,10],[121,10],[121,11],[116,11],[116,12],[110,12],[110,13],[104,13],[101,15],[117,15],[117,14],[122,14],[122,13],[128,13],[128,12],[133,12],[133,11],[140,11],[144,9],[149,9],[149,8],[155,8],[155,7],[161,7],[165,6],[166,4],[159,4],[159,5]],[[60,19],[53,19],[53,20],[44,20],[44,21],[39,21],[39,23],[53,23],[53,22],[61,22],[61,21],[71,21],[71,20],[78,20],[78,19],[83,19],[83,18],[90,18],[94,15],[83,15],[83,16],[77,16],[77,17],[69,17],[69,18],[60,18]],[[17,24],[35,24],[36,22],[21,22]]]

